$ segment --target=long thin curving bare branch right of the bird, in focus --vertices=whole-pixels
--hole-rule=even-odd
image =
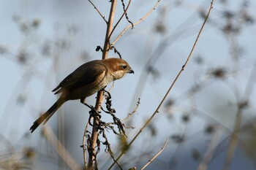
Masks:
[[[158,2],[159,2],[159,1],[158,1]],[[191,58],[192,53],[193,53],[193,51],[194,51],[194,49],[195,49],[195,46],[196,46],[196,44],[197,44],[197,41],[198,41],[198,39],[199,39],[199,37],[200,37],[200,34],[201,34],[201,32],[203,31],[204,26],[206,25],[206,21],[207,21],[207,19],[208,19],[208,16],[210,15],[211,9],[213,8],[213,4],[214,4],[214,0],[211,1],[211,5],[210,5],[210,7],[209,7],[209,9],[208,9],[208,13],[207,13],[206,18],[205,18],[205,20],[204,20],[204,22],[203,22],[203,25],[202,25],[201,28],[200,28],[199,33],[197,34],[197,38],[195,39],[195,43],[194,43],[194,45],[193,45],[193,47],[192,47],[192,50],[190,51],[189,56],[187,57],[187,61],[186,61],[186,62],[184,63],[184,65],[182,66],[180,72],[178,72],[178,75],[176,76],[176,78],[175,78],[175,80],[173,81],[173,83],[170,85],[170,88],[167,90],[167,93],[165,93],[165,96],[162,98],[162,101],[160,102],[160,104],[159,104],[159,106],[157,107],[157,109],[154,111],[153,115],[151,115],[151,117],[149,117],[149,119],[146,121],[146,123],[143,125],[143,127],[140,128],[140,131],[138,131],[138,133],[135,135],[135,137],[132,139],[132,141],[129,142],[129,144],[127,144],[127,147],[130,147],[130,146],[132,145],[132,143],[135,142],[135,139],[138,138],[138,136],[140,135],[140,133],[141,133],[141,132],[144,130],[144,128],[146,128],[146,126],[151,122],[151,120],[153,119],[153,117],[154,117],[155,115],[157,115],[157,113],[159,112],[159,109],[162,107],[162,104],[164,103],[165,99],[167,98],[168,94],[170,93],[170,90],[172,90],[173,86],[174,86],[175,83],[177,82],[178,77],[180,77],[181,73],[182,73],[182,72],[184,71],[184,69],[186,68],[187,63],[189,62],[189,59]],[[124,155],[124,152],[121,152],[121,154],[118,155],[118,158],[116,158],[116,161],[118,161],[118,160],[121,158],[122,155]],[[110,166],[109,169],[111,169],[111,168],[114,166],[114,164],[115,164],[115,162],[113,162],[113,163],[111,164],[111,166]]]

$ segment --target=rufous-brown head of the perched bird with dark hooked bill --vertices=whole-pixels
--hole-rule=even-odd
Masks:
[[[121,79],[121,77],[124,77],[124,75],[127,73],[134,74],[134,71],[129,66],[129,63],[127,63],[127,61],[124,61],[121,58],[108,58],[105,59],[105,62],[108,63],[110,72],[114,80]]]

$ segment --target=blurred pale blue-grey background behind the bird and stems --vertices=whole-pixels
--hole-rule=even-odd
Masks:
[[[5,155],[10,146],[14,152],[31,147],[38,158],[31,161],[34,167],[57,169],[63,165],[58,164],[56,152],[39,129],[29,134],[29,128],[56,101],[51,90],[64,77],[82,63],[101,58],[102,53],[95,49],[103,47],[105,22],[89,1],[0,2],[0,150]],[[156,2],[132,1],[129,20],[137,22]],[[110,3],[94,4],[108,18]],[[114,83],[111,96],[116,115],[126,117],[140,98],[137,112],[127,121],[135,127],[127,129],[128,141],[153,114],[186,61],[203,23],[200,14],[209,5],[210,1],[162,0],[116,43],[122,58],[135,71]],[[148,169],[197,169],[201,161],[193,159],[192,153],[199,152],[203,158],[212,141],[217,147],[208,169],[222,169],[236,120],[241,121],[241,134],[230,169],[255,169],[255,9],[255,1],[215,1],[192,60],[159,114],[124,156],[126,169],[140,169],[159,152],[165,139],[169,139],[167,147]],[[115,21],[122,12],[118,2]],[[112,40],[128,25],[124,18]],[[109,57],[118,55],[110,51]],[[95,95],[86,101],[94,105]],[[237,119],[242,101],[247,101],[246,106]],[[56,134],[64,134],[61,142],[81,165],[79,146],[88,112],[79,101],[68,101],[47,123]],[[102,119],[108,122],[111,117],[102,115]],[[206,131],[211,125],[212,134]],[[118,150],[118,137],[111,132],[108,135],[112,149]],[[99,167],[110,163],[102,149]]]

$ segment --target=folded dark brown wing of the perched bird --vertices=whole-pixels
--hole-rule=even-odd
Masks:
[[[104,74],[106,71],[105,66],[99,63],[84,63],[78,67],[74,72],[69,74],[61,83],[53,89],[55,94],[61,93],[64,89],[72,90],[75,88],[89,85],[94,82],[100,74]],[[59,89],[59,90],[58,90]]]

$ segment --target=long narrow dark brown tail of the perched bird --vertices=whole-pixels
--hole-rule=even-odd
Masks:
[[[59,107],[61,107],[62,104],[64,104],[65,100],[64,98],[59,98],[55,104],[53,104],[52,107],[50,107],[50,109],[48,109],[47,112],[45,112],[42,116],[40,116],[36,121],[34,121],[33,125],[31,125],[29,131],[31,131],[31,133],[41,124],[45,124],[50,117],[52,117],[52,115],[57,111],[57,109],[59,109]]]

